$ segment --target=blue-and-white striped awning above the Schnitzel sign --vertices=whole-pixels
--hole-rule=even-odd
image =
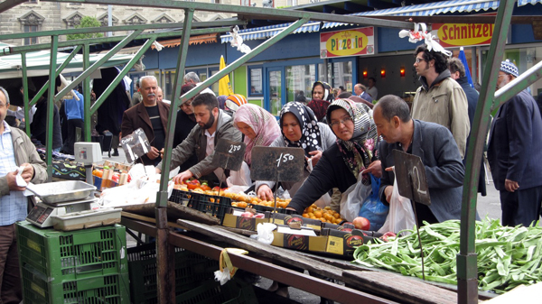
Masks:
[[[519,0],[518,6],[535,5],[542,3],[542,0]],[[450,0],[443,2],[434,2],[424,5],[408,5],[403,7],[394,7],[377,11],[362,12],[350,14],[353,16],[431,16],[434,14],[446,13],[470,13],[488,10],[497,10],[499,0]],[[322,29],[333,28],[347,23],[324,23]]]

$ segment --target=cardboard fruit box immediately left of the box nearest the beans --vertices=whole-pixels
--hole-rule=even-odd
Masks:
[[[287,228],[287,226],[285,228]],[[309,251],[316,253],[325,252],[327,236],[302,235],[302,233],[306,232],[307,230],[313,231],[313,229],[305,227],[302,227],[301,229],[289,229],[289,231],[291,231],[292,233],[286,234],[280,233],[275,230],[273,231],[274,238],[273,243],[271,244],[277,247],[289,248],[300,251]]]

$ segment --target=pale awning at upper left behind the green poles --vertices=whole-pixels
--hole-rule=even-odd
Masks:
[[[70,56],[69,53],[57,53],[57,65],[61,65],[64,60]],[[90,54],[90,64],[100,60],[104,54]],[[133,55],[114,55],[107,60],[101,68],[115,67],[122,65],[131,60]],[[49,75],[49,67],[51,61],[50,51],[33,51],[26,54],[26,69],[28,77]],[[21,62],[21,54],[7,55],[0,57],[0,79],[5,78],[21,78],[23,77],[23,63]],[[77,72],[83,70],[83,55],[75,55],[70,61],[66,69],[62,73]]]

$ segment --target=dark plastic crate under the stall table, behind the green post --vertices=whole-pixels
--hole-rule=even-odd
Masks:
[[[201,281],[214,277],[218,261],[190,251],[175,249],[175,293],[196,288]],[[154,304],[157,299],[156,247],[144,244],[128,248],[130,296],[134,304]]]

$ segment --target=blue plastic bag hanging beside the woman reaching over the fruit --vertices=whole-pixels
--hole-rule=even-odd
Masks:
[[[359,216],[363,216],[369,219],[370,231],[378,231],[381,226],[386,222],[388,217],[389,206],[385,205],[378,198],[378,189],[380,188],[380,179],[375,178],[370,174],[370,183],[372,187],[372,193],[368,198],[365,198],[363,204],[360,207]]]

